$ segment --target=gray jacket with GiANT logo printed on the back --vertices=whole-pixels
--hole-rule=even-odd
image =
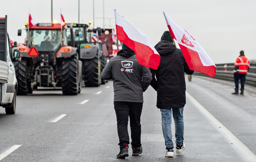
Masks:
[[[143,92],[149,87],[152,74],[137,61],[134,51],[124,48],[112,57],[102,70],[104,80],[113,79],[114,102],[143,103]]]

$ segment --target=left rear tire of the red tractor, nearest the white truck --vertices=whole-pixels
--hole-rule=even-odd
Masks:
[[[18,82],[17,95],[27,95],[32,93],[31,81],[27,79],[27,59],[14,62],[16,78]]]

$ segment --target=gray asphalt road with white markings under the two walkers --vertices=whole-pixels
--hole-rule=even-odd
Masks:
[[[129,157],[116,159],[119,146],[109,81],[100,87],[83,87],[77,96],[47,88],[17,96],[14,115],[0,108],[0,161],[255,162],[256,89],[246,87],[243,96],[232,95],[234,83],[197,76],[186,84],[186,149],[174,153],[174,158],[164,157],[161,114],[156,92],[149,87],[141,117],[143,153],[133,157],[129,149]],[[174,134],[173,129],[173,141]]]

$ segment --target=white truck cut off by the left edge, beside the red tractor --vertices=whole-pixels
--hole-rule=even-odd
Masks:
[[[6,114],[15,114],[18,84],[13,62],[19,61],[20,54],[19,50],[14,50],[14,54],[11,51],[7,16],[0,18],[0,33],[0,106],[5,108]]]

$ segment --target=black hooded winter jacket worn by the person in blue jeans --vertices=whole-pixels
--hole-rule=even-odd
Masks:
[[[157,70],[150,69],[150,85],[157,91],[157,108],[181,108],[186,104],[184,72],[193,74],[180,49],[172,42],[160,41],[155,45],[161,61]],[[156,76],[156,78],[155,78]]]

